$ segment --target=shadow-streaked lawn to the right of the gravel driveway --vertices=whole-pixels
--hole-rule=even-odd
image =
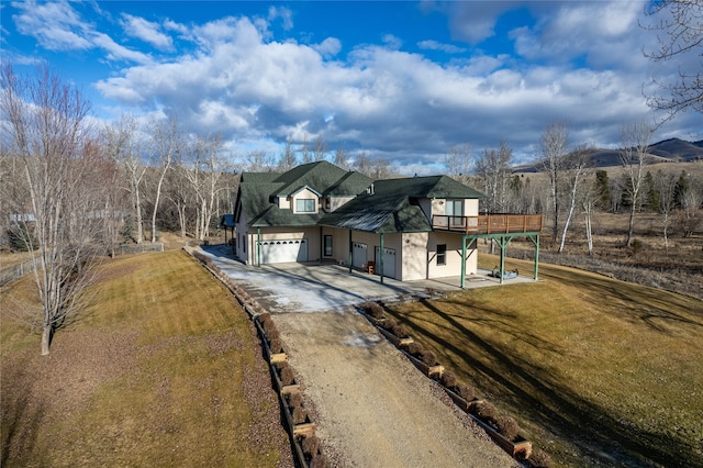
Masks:
[[[703,466],[703,302],[570,268],[539,276],[389,312],[559,466]]]

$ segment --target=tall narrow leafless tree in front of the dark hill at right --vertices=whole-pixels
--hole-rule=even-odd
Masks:
[[[624,192],[632,201],[629,209],[629,223],[627,227],[627,241],[625,245],[629,247],[633,241],[635,229],[635,213],[637,212],[637,201],[643,186],[643,168],[649,158],[649,140],[654,130],[647,122],[639,122],[621,127],[621,141],[623,148],[620,151],[620,160],[625,168]]]

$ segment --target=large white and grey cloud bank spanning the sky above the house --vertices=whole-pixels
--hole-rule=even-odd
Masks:
[[[381,44],[359,45],[341,58],[336,37],[313,45],[276,41],[266,20],[248,18],[199,25],[164,22],[197,47],[168,62],[138,55],[97,32],[85,37],[114,59],[138,64],[97,83],[105,98],[144,112],[177,113],[183,126],[219,131],[230,145],[236,141],[270,148],[289,137],[297,145],[303,136],[321,135],[330,147],[366,149],[372,157],[412,164],[422,174],[422,167],[436,167],[449,146],[462,143],[478,153],[505,141],[517,155],[529,156],[555,120],[569,122],[574,137],[612,146],[621,124],[647,114],[641,62],[622,59],[621,68],[612,59],[602,67],[585,64],[606,55],[595,41],[617,57],[637,56],[633,33],[602,24],[588,41],[570,38],[571,49],[554,44],[568,36],[568,29],[556,24],[558,18],[587,34],[581,23],[590,10],[581,7],[553,9],[537,24],[513,31],[516,47],[538,65],[486,51],[435,63],[400,51],[401,38],[394,35]],[[618,11],[613,8],[609,11]],[[573,67],[570,60],[581,55],[588,59]],[[685,118],[678,124],[692,129],[694,121]]]

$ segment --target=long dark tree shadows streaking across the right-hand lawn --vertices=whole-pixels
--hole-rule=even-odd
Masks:
[[[446,328],[456,331],[462,336],[462,342],[475,346],[476,353],[488,353],[495,365],[482,361],[478,354],[471,354],[471,346],[462,348],[456,341],[449,342],[428,332],[426,327],[411,322],[402,313],[393,310],[388,312],[410,326],[414,337],[431,342],[459,356],[470,369],[482,377],[483,381],[499,389],[500,394],[505,395],[501,398],[512,398],[515,406],[522,409],[525,417],[531,422],[578,446],[581,450],[577,456],[580,460],[578,465],[649,467],[654,464],[662,464],[683,467],[691,466],[692,463],[695,465],[696,457],[699,461],[701,460],[693,447],[681,444],[676,438],[640,431],[634,425],[625,427],[604,408],[560,385],[546,367],[523,359],[510,349],[483,339],[457,321],[455,315],[437,309],[431,302],[422,301],[422,303],[445,321]],[[476,312],[478,316],[495,314],[494,311],[489,310]],[[505,328],[503,332],[526,341],[531,346],[543,350],[546,348],[553,354],[559,353],[556,345],[544,343],[537,336],[520,328],[520,323],[509,324],[505,320],[493,319],[488,321],[491,322],[491,326],[501,326]],[[495,403],[500,405],[500,401]],[[583,457],[590,459],[590,463],[582,463]]]

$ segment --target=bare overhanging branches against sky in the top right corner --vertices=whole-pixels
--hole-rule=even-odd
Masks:
[[[667,111],[669,118],[691,109],[703,112],[703,2],[701,0],[658,0],[649,3],[647,16],[655,19],[644,27],[657,33],[659,47],[645,51],[652,62],[674,63],[669,67],[677,74],[654,79],[662,94],[647,97],[647,104]],[[661,34],[660,34],[661,33]]]

